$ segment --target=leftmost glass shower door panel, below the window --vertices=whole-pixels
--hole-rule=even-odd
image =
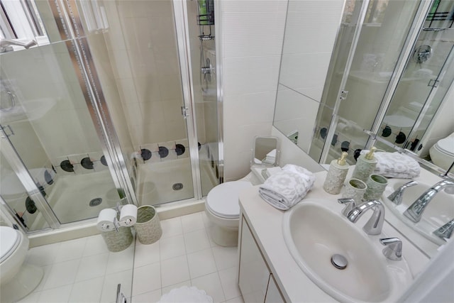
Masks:
[[[1,94],[10,101],[2,104],[0,124],[60,224],[96,218],[120,201],[74,72],[70,43],[0,54]],[[5,145],[0,148],[3,153]],[[20,207],[26,220],[36,216],[27,198]],[[27,226],[38,230],[46,223],[38,216]]]

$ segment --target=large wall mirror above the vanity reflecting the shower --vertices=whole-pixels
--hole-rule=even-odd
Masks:
[[[343,11],[333,1],[322,15],[299,2],[289,0],[273,125],[290,141],[297,133],[299,148],[321,163],[346,150],[354,164],[355,150],[370,144],[365,131],[380,149],[429,160],[431,146],[454,132],[454,1],[435,1],[410,42],[419,1],[373,0],[363,15],[363,1],[345,1]],[[305,43],[315,35],[323,43]],[[424,45],[431,54],[414,60]]]

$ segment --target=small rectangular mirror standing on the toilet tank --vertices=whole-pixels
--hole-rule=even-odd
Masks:
[[[277,166],[279,141],[275,137],[257,136],[254,139],[253,165],[264,167]]]

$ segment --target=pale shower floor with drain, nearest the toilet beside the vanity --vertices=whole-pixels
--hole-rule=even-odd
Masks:
[[[202,188],[211,189],[217,182],[209,162],[201,161],[200,166]],[[165,204],[193,197],[189,158],[139,165],[138,201],[140,205]]]

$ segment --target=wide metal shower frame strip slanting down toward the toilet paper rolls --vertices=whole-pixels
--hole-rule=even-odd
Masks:
[[[82,27],[82,20],[75,0],[48,0],[55,23],[62,40],[67,40],[67,49],[71,55],[74,72],[79,79],[79,85],[84,94],[84,99],[89,108],[94,128],[106,156],[106,162],[111,172],[114,184],[119,189],[124,189],[126,201],[138,205],[135,189],[129,177],[126,161],[121,152],[114,123],[109,114],[101,82],[99,81],[96,67],[86,33]]]

